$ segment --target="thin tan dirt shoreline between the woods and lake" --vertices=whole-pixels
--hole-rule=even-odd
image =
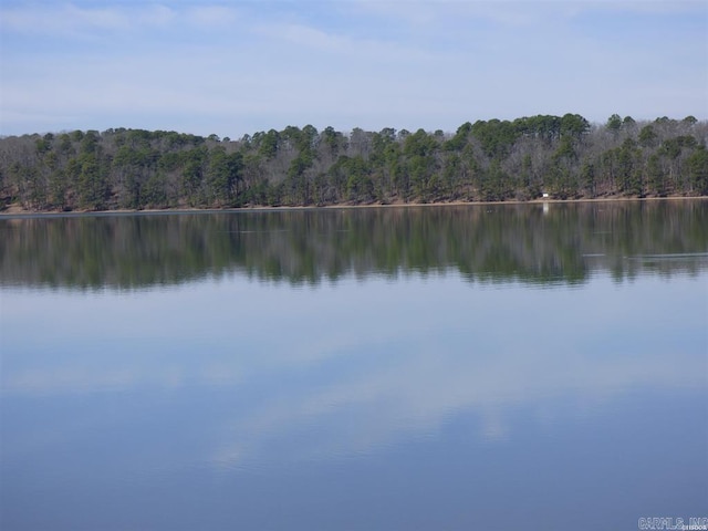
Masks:
[[[230,208],[158,208],[158,209],[112,209],[112,210],[29,210],[20,205],[9,205],[0,210],[0,219],[2,217],[18,216],[106,216],[112,214],[118,215],[149,215],[149,214],[198,214],[198,212],[248,212],[248,211],[284,211],[284,210],[332,210],[332,209],[358,209],[358,208],[434,208],[434,207],[465,207],[465,206],[483,206],[483,205],[544,205],[544,204],[583,204],[583,202],[631,202],[631,201],[685,201],[685,200],[708,200],[708,196],[671,196],[671,197],[597,197],[581,199],[531,199],[528,201],[509,200],[509,201],[447,201],[447,202],[392,202],[392,204],[369,204],[369,205],[323,205],[323,206],[246,206]]]

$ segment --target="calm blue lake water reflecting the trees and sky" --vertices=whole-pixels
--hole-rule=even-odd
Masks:
[[[708,201],[0,219],[3,530],[708,517]]]

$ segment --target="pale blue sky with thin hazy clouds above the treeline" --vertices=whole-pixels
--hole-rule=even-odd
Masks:
[[[0,1],[0,135],[708,119],[708,0]]]

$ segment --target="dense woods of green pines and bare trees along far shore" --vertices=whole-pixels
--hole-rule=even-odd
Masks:
[[[708,195],[708,123],[577,114],[454,134],[312,125],[238,140],[165,131],[0,138],[0,208],[113,210]]]

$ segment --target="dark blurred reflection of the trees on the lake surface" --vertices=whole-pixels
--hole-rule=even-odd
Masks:
[[[686,253],[708,251],[708,202],[39,217],[1,220],[0,230],[4,284],[137,288],[232,272],[317,283],[449,270],[573,283],[592,270],[623,279],[705,268],[705,256]]]

